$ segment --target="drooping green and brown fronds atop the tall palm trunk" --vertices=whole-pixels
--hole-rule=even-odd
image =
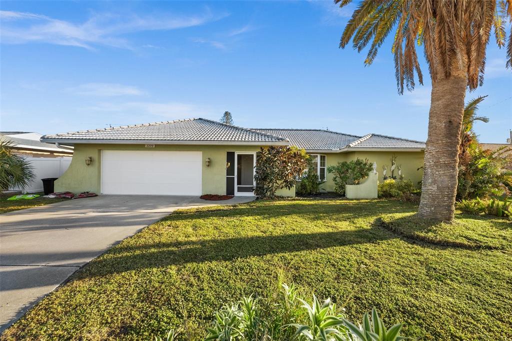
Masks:
[[[349,0],[335,0],[340,7]],[[465,73],[470,90],[481,86],[486,46],[494,33],[498,47],[506,45],[512,68],[512,38],[505,27],[512,22],[512,0],[362,0],[345,27],[340,48],[352,40],[358,52],[368,45],[370,65],[383,42],[394,32],[392,53],[400,94],[413,90],[415,76],[423,82],[416,46],[422,46],[433,82],[438,77]],[[512,32],[510,32],[512,34]],[[371,42],[371,44],[370,44]]]

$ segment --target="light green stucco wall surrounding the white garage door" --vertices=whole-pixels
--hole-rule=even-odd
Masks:
[[[55,191],[93,191],[101,193],[101,150],[125,151],[198,151],[203,156],[203,194],[226,194],[226,152],[258,152],[259,146],[229,145],[169,145],[157,144],[146,148],[143,144],[75,144],[73,160],[66,173],[55,181]],[[91,165],[84,161],[93,158]],[[211,163],[206,167],[206,158]],[[295,188],[280,190],[280,196],[295,196]]]

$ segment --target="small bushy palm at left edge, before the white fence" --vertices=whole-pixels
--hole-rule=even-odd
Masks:
[[[0,140],[0,190],[26,187],[34,176],[30,162],[12,150],[12,142]]]

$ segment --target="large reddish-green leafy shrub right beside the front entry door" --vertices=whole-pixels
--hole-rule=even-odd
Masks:
[[[293,146],[261,148],[256,157],[254,192],[263,198],[275,198],[275,191],[292,188],[307,167],[308,155]]]

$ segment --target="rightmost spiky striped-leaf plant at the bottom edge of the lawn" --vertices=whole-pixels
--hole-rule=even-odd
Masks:
[[[403,336],[399,336],[402,324],[399,323],[387,329],[375,308],[372,309],[371,323],[368,313],[362,318],[362,326],[357,327],[347,319],[344,319],[343,322],[350,330],[350,339],[354,341],[400,341],[406,339]]]

